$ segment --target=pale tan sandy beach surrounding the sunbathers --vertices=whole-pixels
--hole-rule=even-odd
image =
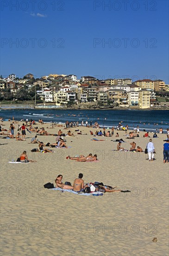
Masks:
[[[21,125],[22,122],[19,122]],[[9,129],[4,121],[2,128]],[[17,134],[18,124],[14,124]],[[49,133],[64,127],[51,128],[38,124]],[[49,127],[49,128],[46,128]],[[77,135],[76,129],[84,135]],[[144,153],[119,152],[113,137],[95,137],[94,128],[71,128],[75,136],[66,136],[71,148],[54,148],[55,153],[31,152],[38,144],[30,144],[36,133],[26,132],[25,141],[0,139],[1,240],[2,255],[18,256],[168,256],[169,255],[169,163],[163,164],[163,143],[166,134],[152,139],[156,154],[149,162]],[[109,129],[110,130],[110,129]],[[107,130],[106,130],[107,131]],[[130,149],[131,141],[118,131]],[[87,134],[87,135],[86,135]],[[150,138],[140,132],[137,146],[146,147]],[[150,133],[152,137],[153,133]],[[0,135],[4,137],[4,135]],[[44,143],[54,143],[55,136],[40,136]],[[46,147],[49,148],[49,147]],[[53,148],[52,148],[53,149]],[[26,150],[35,163],[8,163]],[[97,154],[98,162],[75,162],[68,155]],[[44,189],[56,176],[73,183],[79,173],[87,182],[103,182],[130,190],[131,193],[105,193],[83,196]],[[153,238],[157,242],[152,242]]]

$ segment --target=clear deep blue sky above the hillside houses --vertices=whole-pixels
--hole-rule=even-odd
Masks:
[[[1,0],[0,10],[3,76],[76,74],[169,83],[168,0]]]

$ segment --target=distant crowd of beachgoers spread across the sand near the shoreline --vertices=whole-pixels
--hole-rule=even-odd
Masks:
[[[73,121],[66,121],[65,122],[65,128],[64,129],[68,129],[67,133],[63,133],[63,131],[61,129],[58,130],[57,134],[51,134],[49,132],[47,132],[45,130],[44,127],[42,128],[38,128],[38,126],[35,127],[36,122],[34,120],[28,120],[26,118],[25,122],[22,123],[22,125],[18,125],[18,128],[15,128],[15,124],[18,123],[18,121],[14,121],[14,117],[12,118],[12,123],[10,124],[9,130],[2,128],[1,126],[3,125],[3,118],[0,118],[1,121],[1,125],[0,125],[0,135],[5,135],[6,137],[4,138],[10,138],[10,139],[14,139],[16,141],[25,141],[25,136],[26,136],[26,131],[28,131],[29,133],[36,133],[37,135],[51,135],[51,136],[56,136],[56,140],[54,143],[46,143],[44,144],[43,141],[38,140],[38,136],[35,135],[34,137],[31,138],[31,144],[38,144],[38,148],[34,148],[32,149],[34,152],[48,152],[48,153],[54,153],[54,151],[50,148],[68,148],[68,146],[66,145],[66,140],[65,140],[65,136],[75,136],[75,132],[72,132],[69,128],[74,128],[74,127],[79,127],[79,122],[73,122]],[[11,119],[10,119],[11,121]],[[24,120],[21,120],[24,121]],[[39,119],[38,121],[40,124],[43,124],[44,122],[42,121],[42,119]],[[57,125],[57,124],[51,124],[52,127],[53,126],[57,126],[57,127],[63,127],[62,125]],[[132,139],[134,140],[136,137],[139,137],[139,126],[137,126],[137,128],[134,128],[132,131],[130,131],[128,133],[128,125],[123,126],[121,124],[121,122],[119,122],[119,125],[117,125],[117,127],[112,127],[110,130],[106,131],[106,128],[100,128],[100,125],[98,124],[98,122],[94,122],[94,125],[92,124],[92,121],[90,121],[88,123],[88,121],[81,121],[81,126],[86,126],[87,128],[96,128],[97,130],[89,130],[90,135],[92,136],[105,136],[105,137],[115,137],[114,141],[117,141],[117,150],[118,151],[133,151],[133,152],[144,152],[144,150],[141,148],[141,146],[137,146],[135,141],[132,141],[130,143],[130,148],[129,149],[125,149],[124,147],[122,147],[122,143],[125,142],[122,138],[119,139],[119,132],[116,132],[116,134],[114,135],[114,130],[123,130],[125,131],[125,137],[126,139]],[[99,128],[99,129],[98,129]],[[18,133],[15,135],[14,137],[14,131],[17,130]],[[81,131],[75,130],[77,131],[77,135],[83,135],[83,133]],[[156,128],[156,132],[154,132],[154,134],[152,135],[152,132],[150,133],[149,131],[145,131],[144,130],[144,138],[150,138],[152,137],[153,139],[158,138],[158,133],[159,134],[163,134],[163,128]],[[166,143],[163,144],[163,162],[164,163],[168,163],[169,162],[169,128],[167,128],[167,138],[164,140]],[[126,144],[127,145],[127,144]],[[46,148],[46,147],[50,147],[50,148]],[[150,138],[150,141],[147,143],[146,149],[148,151],[148,155],[149,155],[149,161],[153,161],[154,160],[154,154],[155,152],[155,148],[154,148],[154,144],[152,142],[152,139]],[[89,154],[87,156],[84,155],[75,155],[74,157],[68,156],[67,159],[70,160],[75,160],[77,162],[94,162],[97,161],[97,155],[92,155]]]

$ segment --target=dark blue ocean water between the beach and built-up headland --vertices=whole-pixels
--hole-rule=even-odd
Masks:
[[[65,123],[65,121],[81,121],[84,123],[88,120],[88,124],[97,121],[100,127],[118,126],[119,122],[129,128],[135,128],[139,125],[140,130],[155,131],[156,128],[169,128],[169,110],[68,110],[68,109],[1,109],[0,117],[4,120],[12,119],[21,120],[28,118],[38,121],[42,119],[44,122]]]

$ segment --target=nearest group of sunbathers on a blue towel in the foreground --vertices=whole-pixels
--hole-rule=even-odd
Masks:
[[[88,188],[92,188],[89,189],[88,192],[95,192],[95,191],[99,191],[99,192],[119,192],[121,191],[121,189],[116,189],[117,187],[111,187],[111,186],[105,186],[103,185],[102,182],[94,182],[94,183],[87,183],[86,185],[84,185],[84,180],[82,180],[83,178],[83,174],[80,173],[78,175],[78,178],[76,178],[73,182],[73,186],[71,185],[71,183],[69,185],[65,184],[62,182],[63,179],[63,175],[58,175],[55,183],[56,183],[56,188],[57,189],[71,189],[74,192],[77,193],[83,193],[86,192],[86,189]]]

